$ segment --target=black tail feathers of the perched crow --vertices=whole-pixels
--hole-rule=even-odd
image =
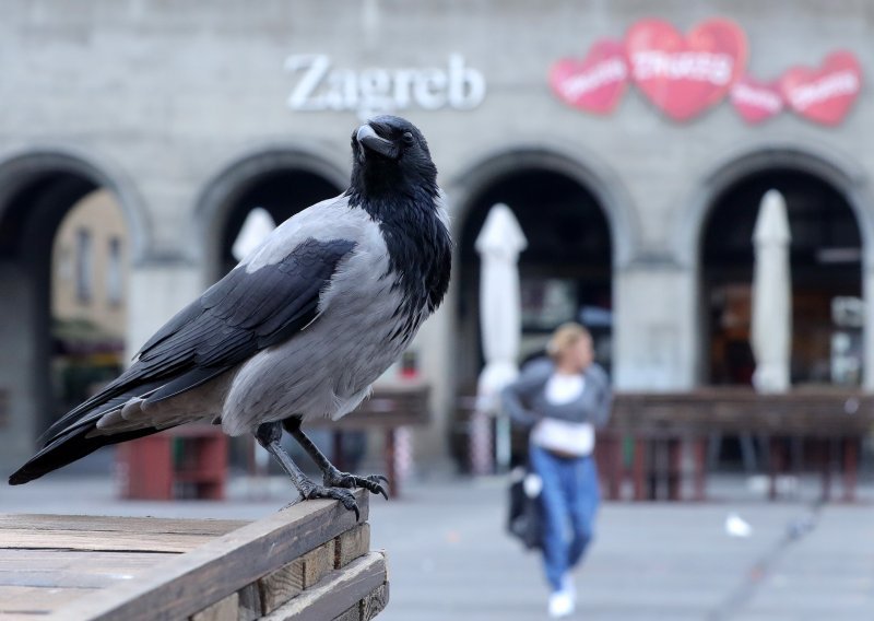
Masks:
[[[66,434],[59,435],[39,453],[31,457],[24,466],[13,472],[9,478],[9,484],[21,485],[22,483],[38,479],[43,474],[47,474],[68,464],[72,464],[76,459],[94,453],[102,446],[135,440],[158,431],[155,427],[145,427],[114,435],[87,437],[87,434],[93,431],[93,429],[94,425],[87,425],[85,427],[80,426]]]

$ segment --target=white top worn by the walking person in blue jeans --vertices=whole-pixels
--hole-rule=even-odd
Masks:
[[[560,406],[578,399],[586,390],[586,378],[579,375],[554,373],[546,382],[546,400]],[[558,450],[578,457],[591,455],[594,448],[592,423],[575,423],[545,418],[531,430],[531,442],[548,450]]]

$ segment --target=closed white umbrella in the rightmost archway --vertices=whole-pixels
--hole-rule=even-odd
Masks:
[[[789,270],[789,219],[777,190],[761,199],[753,231],[755,267],[751,345],[756,359],[753,385],[759,392],[789,389],[792,353],[792,279]]]

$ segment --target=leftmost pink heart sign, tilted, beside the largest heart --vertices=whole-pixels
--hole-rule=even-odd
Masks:
[[[550,86],[567,104],[606,115],[622,99],[628,83],[628,65],[623,44],[595,42],[586,58],[563,58],[550,70]]]

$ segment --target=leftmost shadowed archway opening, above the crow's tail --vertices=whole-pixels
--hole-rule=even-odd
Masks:
[[[80,308],[72,314],[61,313],[63,317],[58,314],[56,277],[59,267],[69,269],[72,279],[83,276],[91,283],[103,284],[99,260],[80,261],[75,247],[69,256],[52,253],[64,219],[79,203],[87,201],[87,197],[97,195],[103,184],[97,175],[81,172],[80,168],[86,167],[81,163],[72,162],[68,167],[63,163],[56,166],[52,162],[51,156],[35,156],[34,162],[23,162],[20,169],[3,178],[0,187],[3,196],[0,291],[7,312],[7,325],[0,330],[5,350],[0,355],[0,379],[9,390],[21,392],[9,397],[10,402],[24,405],[12,412],[16,420],[11,432],[20,438],[16,450],[29,452],[36,435],[64,413],[73,401],[78,402],[87,396],[87,390],[95,390],[101,383],[111,379],[120,368],[118,363],[123,353],[123,332],[116,331],[110,343],[97,342],[105,333],[93,323],[95,312],[99,316],[104,305],[121,304],[123,300],[109,301],[103,295],[104,289],[97,286],[98,296],[85,301],[83,295],[86,303]],[[101,196],[108,201],[109,209],[118,211],[114,224],[119,224],[123,233],[114,235],[117,250],[113,251],[123,261],[117,267],[126,270],[126,218],[111,191],[103,190]],[[103,229],[101,219],[82,222],[73,237],[79,235],[83,241],[102,243],[105,241],[101,235]],[[84,247],[85,242],[82,244]],[[93,249],[98,258],[110,251],[103,246]],[[73,359],[76,368],[70,372]]]

